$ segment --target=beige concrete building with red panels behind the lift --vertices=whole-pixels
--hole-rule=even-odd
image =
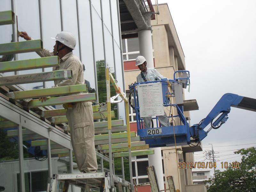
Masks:
[[[157,16],[157,20],[151,20],[154,68],[156,68],[157,71],[163,76],[173,79],[173,74],[175,71],[186,70],[185,55],[182,50],[168,5],[159,4],[158,11],[160,14]],[[139,38],[140,37],[122,39],[125,90],[127,94],[129,92],[128,85],[134,83],[136,81],[136,76],[140,73],[138,67],[135,66],[136,57],[138,55],[142,55],[140,54]],[[185,91],[183,90],[183,93],[184,92]],[[183,94],[183,96],[185,100],[185,94]],[[196,107],[184,110],[184,115],[188,121],[190,120],[189,111],[196,109],[198,109],[197,104]],[[165,112],[167,115],[170,113],[168,109],[165,109]],[[174,113],[174,115],[177,114]],[[174,120],[176,125],[180,124],[177,117],[175,117]],[[130,108],[130,122],[132,130],[137,131],[137,126],[135,123],[136,114],[132,108]],[[193,188],[192,170],[190,168],[180,169],[178,168],[178,163],[194,162],[193,152],[202,151],[202,147],[197,146],[192,148],[188,145],[177,146],[177,150],[183,151],[183,153],[176,153],[175,147],[161,148],[163,177],[164,181],[166,181],[166,177],[172,175],[176,189],[179,188],[180,191],[185,192],[186,186],[192,185],[192,187],[189,187],[189,189]],[[148,166],[147,157],[148,156],[143,156],[143,158],[133,158],[133,179],[136,179],[137,184],[148,182],[146,171],[141,171],[141,169],[145,170],[145,168]],[[138,187],[138,191],[140,190],[150,191],[150,186],[140,186]]]

